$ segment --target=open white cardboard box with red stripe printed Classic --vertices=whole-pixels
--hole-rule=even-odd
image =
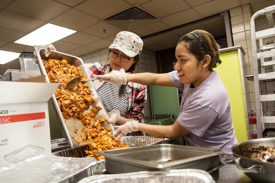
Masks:
[[[51,153],[47,102],[59,83],[42,77],[0,81],[0,167]]]

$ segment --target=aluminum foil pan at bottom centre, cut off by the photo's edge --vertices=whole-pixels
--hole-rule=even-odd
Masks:
[[[196,182],[215,183],[214,179],[204,170],[182,169],[165,171],[142,171],[128,174],[105,174],[86,177],[78,183],[144,183],[144,182]]]

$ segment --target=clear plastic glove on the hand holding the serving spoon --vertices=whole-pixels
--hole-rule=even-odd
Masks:
[[[94,77],[96,77],[102,81],[112,83],[112,84],[117,84],[117,83],[126,84],[127,83],[124,69],[120,69],[119,71],[112,70],[111,72],[104,74],[104,75],[95,75],[94,74]]]

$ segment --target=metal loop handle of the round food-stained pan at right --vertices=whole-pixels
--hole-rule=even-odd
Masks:
[[[220,156],[220,160],[223,164],[234,164],[235,162],[235,165],[237,166],[237,168],[244,173],[261,173],[262,174],[265,172],[264,168],[261,165],[252,165],[249,168],[242,167],[240,165],[240,157],[229,156],[222,151],[218,152],[218,155]]]

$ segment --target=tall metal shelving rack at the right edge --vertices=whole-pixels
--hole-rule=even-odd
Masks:
[[[275,111],[267,111],[267,101],[275,101],[275,94],[266,95],[266,81],[275,81],[275,44],[263,45],[263,39],[275,36],[275,26],[273,24],[273,13],[275,13],[275,5],[256,12],[250,20],[251,43],[252,43],[252,59],[254,70],[254,88],[255,88],[255,110],[257,120],[258,138],[262,138],[262,123],[275,123]],[[265,15],[269,29],[255,31],[255,19],[258,16]],[[257,41],[259,41],[259,51],[257,52]],[[271,61],[265,61],[265,58],[272,58]],[[258,63],[259,60],[259,63]],[[273,72],[265,73],[266,66],[273,66]],[[259,74],[259,68],[261,74]],[[259,84],[262,84],[263,92],[260,95]],[[265,114],[261,114],[261,102]]]

